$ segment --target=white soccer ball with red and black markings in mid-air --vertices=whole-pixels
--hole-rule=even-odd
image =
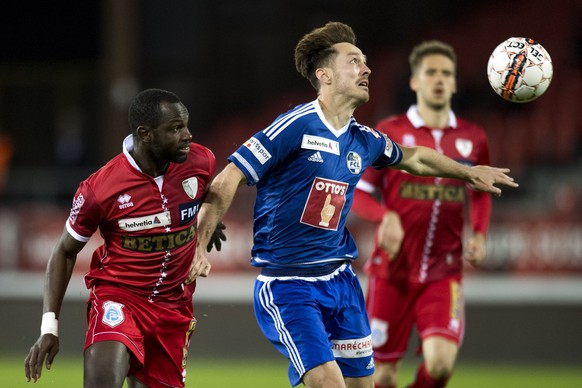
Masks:
[[[507,101],[530,102],[544,94],[554,74],[546,49],[533,39],[509,38],[493,50],[487,77]]]

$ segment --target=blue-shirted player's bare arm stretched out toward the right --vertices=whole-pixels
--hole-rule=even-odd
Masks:
[[[501,189],[495,185],[518,187],[512,177],[506,175],[508,168],[490,166],[466,166],[428,147],[404,147],[402,160],[395,168],[419,176],[440,176],[467,181],[475,190],[496,196]]]

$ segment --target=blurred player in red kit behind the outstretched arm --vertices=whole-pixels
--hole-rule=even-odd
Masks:
[[[403,146],[426,146],[466,165],[488,165],[485,131],[451,110],[456,92],[453,48],[424,42],[412,50],[409,61],[416,105],[376,128]],[[382,203],[375,200],[376,190]],[[463,245],[467,197],[472,233]],[[396,387],[413,325],[424,362],[411,387],[444,387],[464,333],[462,259],[479,266],[485,258],[490,194],[455,179],[368,169],[352,209],[379,224],[366,264],[376,387]]]

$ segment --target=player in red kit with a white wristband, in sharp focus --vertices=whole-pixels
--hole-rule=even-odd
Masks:
[[[58,317],[77,254],[99,229],[104,245],[85,275],[90,297],[85,387],[183,387],[196,320],[184,284],[196,251],[197,213],[216,167],[192,143],[188,110],[148,89],[129,108],[123,152],[81,182],[46,270],[41,336],[25,359],[28,381],[59,350]],[[217,245],[218,247],[218,245]],[[206,276],[208,262],[196,276]]]

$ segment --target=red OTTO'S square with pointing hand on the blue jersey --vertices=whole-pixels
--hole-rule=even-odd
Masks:
[[[316,228],[337,230],[348,183],[316,177],[309,191],[300,222]]]

